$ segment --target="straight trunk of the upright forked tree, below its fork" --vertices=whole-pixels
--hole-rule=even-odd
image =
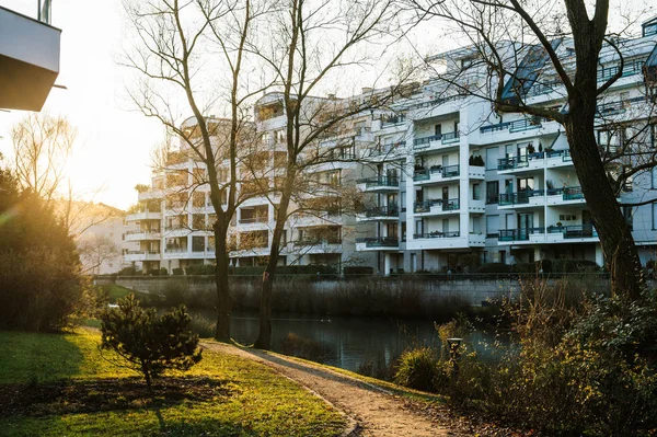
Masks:
[[[230,342],[230,311],[232,301],[228,283],[228,248],[226,243],[228,228],[215,225],[215,283],[217,285],[217,330],[215,338]]]

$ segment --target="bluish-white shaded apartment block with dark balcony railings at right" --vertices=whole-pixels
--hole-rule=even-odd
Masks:
[[[634,141],[627,149],[633,157],[608,163],[612,172],[636,164],[637,156],[655,158],[655,125],[649,123],[657,114],[656,23],[645,23],[641,37],[619,44],[624,57],[622,78],[598,105],[602,158],[618,154],[630,138]],[[568,69],[574,69],[572,44],[555,44]],[[511,67],[535,62],[534,55],[530,51]],[[448,72],[463,71],[476,61],[476,54],[463,48],[436,59]],[[526,102],[567,111],[563,89],[548,65],[523,85]],[[599,82],[620,68],[615,50],[606,47]],[[460,80],[477,80],[476,69],[464,76]],[[427,81],[372,123],[381,162],[360,186],[377,198],[377,212],[367,219],[378,225],[358,249],[379,253],[383,261],[378,269],[384,274],[458,269],[468,264],[464,256],[473,254],[482,263],[572,257],[602,265],[563,127],[522,114],[495,114],[489,101],[459,95],[453,89],[458,87]],[[637,173],[619,200],[643,204],[624,207],[623,214],[633,227],[642,261],[657,257],[657,170]]]

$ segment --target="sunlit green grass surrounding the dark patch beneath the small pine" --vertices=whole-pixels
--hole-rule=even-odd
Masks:
[[[97,331],[87,329],[61,335],[0,332],[0,383],[135,376],[103,359],[99,343]],[[226,381],[231,395],[221,401],[187,400],[129,411],[3,417],[0,435],[324,437],[344,428],[339,413],[257,363],[204,350],[204,359],[185,375]]]

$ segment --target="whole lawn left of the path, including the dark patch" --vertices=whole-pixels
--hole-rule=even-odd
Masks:
[[[163,386],[146,396],[131,370],[101,356],[99,343],[100,333],[89,329],[0,332],[0,435],[322,437],[343,430],[339,413],[257,363],[204,350],[192,370],[162,382],[175,384],[173,394]]]

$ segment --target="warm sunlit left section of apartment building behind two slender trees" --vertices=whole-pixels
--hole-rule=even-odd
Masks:
[[[313,99],[309,104],[327,100]],[[287,162],[283,115],[280,94],[267,94],[255,106],[257,135],[252,141],[257,141],[257,146],[245,146],[239,158],[238,195],[242,202],[229,230],[233,266],[260,265],[269,255],[274,208],[280,195],[275,191],[264,192],[263,185],[273,188],[281,183],[283,166]],[[226,123],[212,117],[208,119]],[[345,265],[372,264],[373,255],[356,251],[356,218],[341,214],[341,186],[344,181],[355,179],[354,172],[359,166],[353,159],[355,145],[367,140],[360,136],[367,136],[368,127],[355,123],[355,127],[341,129],[319,141],[320,150],[334,149],[345,159],[319,160],[303,170],[304,176],[299,182],[303,189],[295,194],[290,211],[296,212],[286,222],[281,264],[334,265],[338,269]],[[194,119],[189,118],[182,127],[194,128]],[[220,136],[221,129],[215,143],[224,142]],[[318,149],[313,148],[313,151]],[[229,174],[229,162],[224,160],[218,168],[219,182],[226,183]],[[136,229],[128,231],[125,239],[139,245],[125,254],[126,262],[139,263],[145,272],[166,268],[170,273],[174,268],[214,264],[211,225],[215,210],[209,185],[198,183],[206,177],[205,164],[181,140],[180,151],[170,156],[166,170],[153,174],[149,187],[141,187],[137,205],[126,217]]]

